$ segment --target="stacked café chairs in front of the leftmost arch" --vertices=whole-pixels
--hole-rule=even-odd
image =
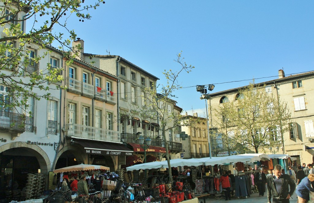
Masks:
[[[44,192],[45,176],[36,174],[27,174],[27,183],[25,190],[21,191],[21,196],[25,200],[37,199]]]

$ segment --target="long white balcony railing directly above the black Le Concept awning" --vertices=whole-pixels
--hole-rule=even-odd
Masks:
[[[79,124],[67,124],[68,137],[78,137],[90,140],[104,140],[110,142],[121,142],[117,131],[95,128]]]

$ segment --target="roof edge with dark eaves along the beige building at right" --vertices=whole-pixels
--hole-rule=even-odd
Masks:
[[[289,81],[289,80],[292,80],[292,79],[302,78],[302,77],[304,77],[304,76],[309,76],[309,75],[314,75],[314,71],[305,72],[305,73],[300,73],[300,74],[295,74],[295,75],[290,75],[290,76],[283,77],[283,78],[278,78],[278,79],[269,80],[269,81],[262,82],[262,83],[257,83],[257,84],[255,84],[255,86],[261,87],[261,86],[263,86],[264,84],[265,84],[265,85],[268,85],[268,84],[276,84],[276,83],[278,84],[278,83],[280,83],[280,82],[285,82],[285,81]],[[206,95],[209,95],[209,96],[214,97],[214,96],[219,96],[219,95],[224,95],[224,94],[232,93],[232,92],[238,91],[239,89],[243,89],[243,88],[246,88],[246,87],[248,87],[248,85],[242,86],[242,87],[238,87],[238,88],[233,88],[233,89],[227,89],[227,90],[224,90],[224,91],[215,92],[215,93],[206,94]]]

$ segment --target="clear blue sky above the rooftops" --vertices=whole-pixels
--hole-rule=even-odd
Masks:
[[[85,4],[92,0],[85,0]],[[84,52],[119,55],[160,78],[179,69],[182,55],[195,69],[179,77],[177,105],[204,116],[198,84],[212,91],[314,70],[314,1],[105,0],[92,19],[68,23],[84,40]],[[274,77],[271,77],[274,76]],[[224,83],[224,84],[220,84]]]

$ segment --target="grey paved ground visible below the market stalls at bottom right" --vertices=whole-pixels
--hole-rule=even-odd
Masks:
[[[292,199],[293,198],[293,199]],[[296,203],[298,200],[298,196],[294,193],[292,195],[292,198],[290,198],[290,203]],[[231,196],[231,200],[226,201],[225,197],[221,197],[221,198],[215,198],[214,196],[208,196],[206,199],[206,203],[267,203],[267,192],[265,192],[265,195],[262,197],[258,196],[258,192],[252,194],[250,197],[247,198],[237,198],[237,197],[232,197]],[[198,202],[199,203],[204,203],[203,202],[203,198],[199,198]],[[309,201],[310,202],[310,201]]]

